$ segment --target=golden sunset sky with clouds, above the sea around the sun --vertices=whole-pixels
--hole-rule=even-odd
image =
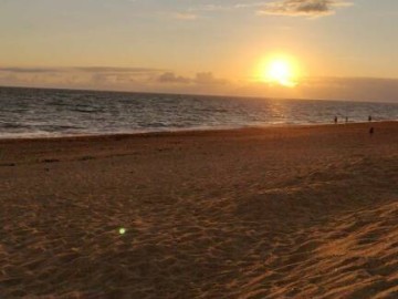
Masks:
[[[397,0],[0,0],[0,85],[398,102],[397,33]]]

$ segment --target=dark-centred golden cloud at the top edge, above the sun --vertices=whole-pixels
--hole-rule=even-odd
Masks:
[[[266,3],[258,14],[316,18],[334,14],[337,8],[348,6],[352,3],[343,0],[277,0]]]

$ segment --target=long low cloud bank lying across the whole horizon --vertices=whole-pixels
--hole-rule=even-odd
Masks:
[[[289,89],[232,82],[211,72],[182,75],[150,68],[0,68],[1,85],[398,103],[398,79],[304,78]]]

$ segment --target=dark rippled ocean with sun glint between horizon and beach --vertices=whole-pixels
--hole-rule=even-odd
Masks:
[[[0,138],[397,121],[398,104],[0,87]]]

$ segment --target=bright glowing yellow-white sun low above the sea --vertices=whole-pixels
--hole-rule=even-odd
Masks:
[[[296,79],[297,72],[292,59],[272,58],[263,66],[262,80],[268,83],[294,87],[297,85]]]

